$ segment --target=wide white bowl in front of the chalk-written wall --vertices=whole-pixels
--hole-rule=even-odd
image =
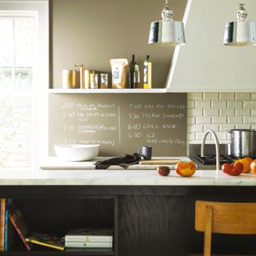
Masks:
[[[99,145],[54,144],[58,158],[66,161],[86,161],[98,156]]]

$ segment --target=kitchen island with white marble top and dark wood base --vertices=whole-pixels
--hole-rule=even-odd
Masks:
[[[4,170],[1,198],[14,198],[33,230],[64,235],[74,226],[114,229],[111,251],[26,253],[18,236],[8,255],[159,255],[202,253],[194,231],[194,202],[256,202],[256,174],[231,177],[197,170],[191,178],[171,170]],[[234,213],[230,213],[234,214]],[[249,245],[250,246],[246,246]],[[254,236],[214,235],[214,253],[256,254]],[[41,249],[44,250],[44,249]]]

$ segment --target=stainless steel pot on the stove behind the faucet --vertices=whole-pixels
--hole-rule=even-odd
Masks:
[[[230,154],[232,156],[256,158],[256,130],[233,129],[227,131],[231,134]]]

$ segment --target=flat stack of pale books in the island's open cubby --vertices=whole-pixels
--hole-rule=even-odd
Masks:
[[[65,236],[66,248],[112,248],[112,229],[70,229]]]

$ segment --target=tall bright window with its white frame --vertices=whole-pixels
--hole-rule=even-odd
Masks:
[[[31,168],[46,155],[47,9],[47,1],[0,1],[1,168]]]

